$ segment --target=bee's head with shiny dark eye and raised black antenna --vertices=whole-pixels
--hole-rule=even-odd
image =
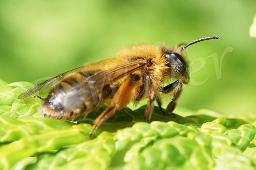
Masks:
[[[205,38],[196,39],[190,42],[187,45],[182,47],[176,47],[174,49],[165,49],[164,50],[164,57],[167,59],[169,66],[169,73],[171,74],[172,78],[181,79],[184,84],[189,82],[189,75],[188,75],[188,62],[183,57],[183,51],[190,45],[195,44],[200,41],[205,41],[209,39],[218,39],[218,36],[210,36]]]

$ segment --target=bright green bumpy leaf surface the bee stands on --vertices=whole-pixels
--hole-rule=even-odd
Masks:
[[[40,100],[17,99],[32,86],[0,81],[0,169],[255,169],[254,116],[183,108],[163,115],[155,107],[146,123],[145,106],[124,108],[88,140],[91,124],[107,106],[79,123],[44,118],[37,111]]]

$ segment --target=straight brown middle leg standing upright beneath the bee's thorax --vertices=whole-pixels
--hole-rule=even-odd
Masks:
[[[145,118],[146,122],[149,122],[151,115],[153,113],[153,110],[154,110],[154,101],[156,98],[156,90],[153,89],[152,81],[150,80],[150,78],[148,76],[146,77],[146,95],[149,98],[149,100],[147,101],[144,118]]]

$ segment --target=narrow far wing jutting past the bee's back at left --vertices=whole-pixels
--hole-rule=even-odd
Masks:
[[[18,96],[18,99],[25,99],[29,96],[31,96],[32,94],[35,94],[38,91],[44,91],[47,88],[51,87],[52,85],[54,85],[55,83],[59,82],[61,79],[63,79],[67,74],[71,73],[71,72],[75,72],[75,71],[79,71],[79,70],[83,70],[83,66],[82,67],[78,67],[75,68],[73,70],[67,71],[65,73],[62,73],[56,77],[53,77],[49,80],[46,80],[38,85],[35,85],[34,87],[28,89],[27,91],[25,91],[24,93],[20,94]]]

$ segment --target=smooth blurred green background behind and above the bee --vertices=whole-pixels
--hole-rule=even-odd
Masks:
[[[218,35],[186,49],[191,83],[178,105],[255,113],[255,9],[255,0],[1,0],[0,79],[35,83],[130,44]]]

